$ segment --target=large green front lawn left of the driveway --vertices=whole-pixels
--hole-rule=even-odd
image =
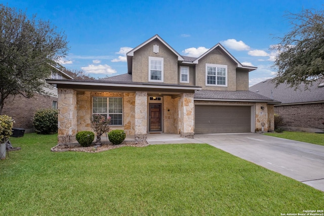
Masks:
[[[56,135],[11,138],[0,215],[280,215],[324,193],[207,144],[51,152]]]

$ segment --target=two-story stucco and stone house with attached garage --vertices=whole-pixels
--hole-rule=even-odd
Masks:
[[[91,131],[93,114],[135,139],[148,133],[193,138],[204,133],[273,129],[273,104],[249,91],[249,72],[217,44],[198,58],[181,56],[154,35],[127,53],[128,73],[105,80],[47,80],[57,84],[58,142]]]

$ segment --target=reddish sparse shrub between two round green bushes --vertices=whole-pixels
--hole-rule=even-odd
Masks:
[[[101,135],[109,132],[110,119],[110,116],[106,118],[99,114],[95,114],[91,117],[91,127],[97,135],[96,143],[101,143]]]

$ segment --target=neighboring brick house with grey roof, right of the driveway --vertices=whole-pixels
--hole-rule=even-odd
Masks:
[[[323,132],[324,129],[324,80],[313,82],[305,90],[305,84],[299,89],[286,84],[264,80],[250,87],[250,91],[281,101],[274,105],[274,112],[284,120],[284,128],[291,131]]]

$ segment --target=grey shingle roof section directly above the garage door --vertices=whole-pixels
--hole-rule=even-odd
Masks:
[[[278,101],[274,101],[268,97],[259,95],[251,91],[199,90],[195,92],[194,99],[271,101],[273,103],[279,103]]]

